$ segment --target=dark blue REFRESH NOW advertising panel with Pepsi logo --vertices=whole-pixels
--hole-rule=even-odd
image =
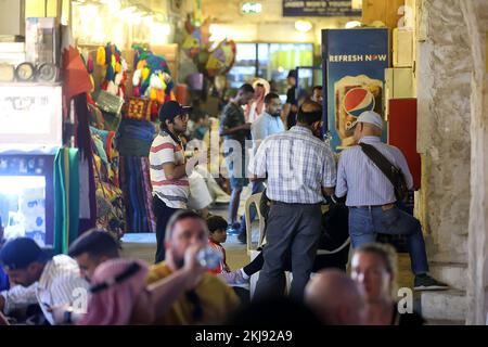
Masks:
[[[332,149],[337,151],[354,143],[350,127],[362,112],[375,111],[384,117],[388,29],[324,29],[322,50],[326,88],[324,130],[331,132]]]

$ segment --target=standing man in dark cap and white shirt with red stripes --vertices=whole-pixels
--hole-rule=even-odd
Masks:
[[[154,139],[149,162],[156,216],[156,262],[165,259],[166,224],[178,209],[187,208],[190,183],[180,136],[187,131],[190,107],[167,101],[159,108],[160,131]]]

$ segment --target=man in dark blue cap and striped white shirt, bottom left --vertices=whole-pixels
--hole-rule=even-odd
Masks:
[[[50,259],[34,240],[18,237],[2,247],[0,262],[12,284],[17,284],[0,293],[0,310],[7,314],[38,304],[46,320],[54,324],[52,307],[86,309],[89,284],[70,257],[57,255]]]

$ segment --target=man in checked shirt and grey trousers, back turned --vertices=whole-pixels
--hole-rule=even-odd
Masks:
[[[267,178],[271,201],[256,299],[284,293],[288,254],[293,273],[290,295],[303,299],[322,230],[321,204],[324,194],[334,193],[336,180],[332,152],[319,139],[321,126],[322,106],[305,102],[296,126],[266,138],[249,163],[251,180]]]

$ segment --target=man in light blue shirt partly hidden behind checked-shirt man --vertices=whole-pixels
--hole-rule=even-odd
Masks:
[[[267,137],[283,132],[285,130],[283,121],[281,120],[281,101],[277,93],[268,93],[265,97],[265,113],[259,116],[251,126],[251,134],[253,137],[253,155],[256,155],[259,145]],[[260,193],[265,190],[261,181],[253,182],[252,194]],[[256,218],[256,210],[251,209],[251,221]],[[241,230],[237,235],[239,241],[246,242],[246,223],[241,223]]]

